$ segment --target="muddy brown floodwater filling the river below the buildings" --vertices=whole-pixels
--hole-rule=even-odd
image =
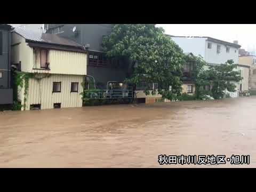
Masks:
[[[0,167],[256,167],[256,97],[0,112]],[[158,155],[250,155],[159,165]]]

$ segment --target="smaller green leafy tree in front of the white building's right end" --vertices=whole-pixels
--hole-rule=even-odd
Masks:
[[[212,85],[212,96],[214,99],[224,98],[225,91],[235,92],[235,82],[239,82],[243,79],[237,68],[237,64],[234,64],[233,60],[228,60],[221,65],[210,66],[208,70],[204,72],[205,82]]]

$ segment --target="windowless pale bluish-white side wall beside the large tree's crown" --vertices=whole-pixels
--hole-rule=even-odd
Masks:
[[[205,58],[206,38],[171,37],[171,39],[179,45],[184,53],[191,52],[194,55],[201,55]]]

